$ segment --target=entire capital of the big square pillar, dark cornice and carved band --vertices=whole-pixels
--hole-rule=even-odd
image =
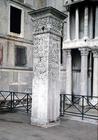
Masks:
[[[62,36],[63,21],[67,17],[53,7],[45,7],[29,12],[33,20],[33,34],[53,33]]]

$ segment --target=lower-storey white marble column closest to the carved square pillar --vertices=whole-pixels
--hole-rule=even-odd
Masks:
[[[66,50],[66,94],[72,94],[72,56],[71,50]],[[71,96],[69,96],[71,99]]]

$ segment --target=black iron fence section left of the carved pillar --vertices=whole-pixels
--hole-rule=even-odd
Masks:
[[[29,112],[32,103],[31,93],[0,91],[0,111],[21,109]]]

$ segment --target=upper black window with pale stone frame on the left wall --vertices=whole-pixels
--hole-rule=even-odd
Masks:
[[[13,4],[9,5],[8,33],[18,37],[23,37],[24,35],[24,11]]]

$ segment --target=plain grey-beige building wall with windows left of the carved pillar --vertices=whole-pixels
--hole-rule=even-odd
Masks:
[[[0,1],[0,90],[31,91],[32,1]],[[28,79],[28,80],[27,80]]]

